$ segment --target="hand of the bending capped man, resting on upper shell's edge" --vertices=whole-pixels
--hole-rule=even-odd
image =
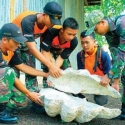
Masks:
[[[54,78],[58,78],[62,75],[61,69],[57,67],[56,65],[53,64],[51,68],[49,68],[49,73],[52,75]]]

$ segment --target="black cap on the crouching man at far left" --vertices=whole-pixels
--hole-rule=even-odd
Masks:
[[[27,39],[22,35],[19,27],[12,23],[4,24],[0,29],[0,39],[3,37],[10,37],[17,43],[23,43],[27,41]]]

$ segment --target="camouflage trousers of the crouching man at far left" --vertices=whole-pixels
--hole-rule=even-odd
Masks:
[[[7,103],[9,108],[21,108],[27,105],[24,94],[13,86],[15,78],[12,68],[0,68],[0,103]]]

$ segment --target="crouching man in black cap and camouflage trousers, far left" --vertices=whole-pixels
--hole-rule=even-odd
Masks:
[[[16,116],[10,115],[7,107],[25,106],[25,96],[42,105],[39,94],[27,90],[16,77],[14,70],[8,66],[11,64],[22,72],[33,76],[48,76],[46,73],[23,64],[18,57],[15,50],[20,46],[20,43],[26,41],[27,39],[21,34],[19,28],[12,23],[3,25],[0,30],[0,123],[13,124],[18,121]]]

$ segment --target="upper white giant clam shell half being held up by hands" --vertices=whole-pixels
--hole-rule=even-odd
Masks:
[[[87,93],[97,95],[109,95],[114,98],[121,97],[120,93],[111,86],[103,87],[100,85],[100,78],[97,75],[91,75],[88,70],[74,70],[68,68],[62,71],[62,76],[54,78],[48,77],[52,86],[60,91],[68,93]]]

